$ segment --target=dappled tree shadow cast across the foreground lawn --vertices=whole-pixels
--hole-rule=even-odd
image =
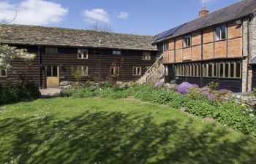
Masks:
[[[192,124],[119,112],[0,120],[0,163],[256,163],[252,140]]]

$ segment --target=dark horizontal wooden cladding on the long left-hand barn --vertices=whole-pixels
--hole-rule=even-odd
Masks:
[[[18,48],[26,48],[29,52],[37,54],[37,57],[31,61],[31,69],[27,72],[27,77],[32,82],[39,85],[39,58],[38,47],[34,46],[18,46]],[[151,60],[143,60],[143,52],[146,50],[121,50],[121,55],[113,55],[115,49],[102,49],[102,48],[79,48],[88,50],[88,59],[78,59],[77,47],[58,47],[58,53],[47,53],[45,47],[42,47],[42,87],[46,87],[46,66],[59,66],[59,78],[61,81],[76,81],[72,77],[71,67],[74,66],[87,66],[89,76],[82,77],[81,82],[88,80],[94,81],[96,79],[95,74],[100,74],[102,80],[105,80],[110,76],[110,67],[114,62],[117,62],[120,68],[120,75],[117,80],[121,82],[131,82],[138,80],[156,60],[157,51],[151,52]],[[134,66],[140,66],[141,76],[134,76],[132,74],[132,68]],[[15,59],[12,61],[12,69],[7,72],[6,77],[0,77],[1,85],[5,85],[7,79],[12,82],[18,82],[18,77],[25,70],[25,62]]]

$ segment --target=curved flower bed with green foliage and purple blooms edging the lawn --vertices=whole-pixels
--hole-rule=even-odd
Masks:
[[[233,93],[229,90],[212,90],[210,87],[199,88],[197,85],[191,85],[187,82],[174,89],[167,88],[163,83],[136,85],[135,83],[111,84],[102,82],[84,86],[67,90],[63,95],[75,98],[98,96],[113,99],[132,96],[140,101],[165,104],[173,108],[184,108],[186,112],[198,117],[211,117],[223,125],[256,136],[255,110],[238,104],[233,99]]]

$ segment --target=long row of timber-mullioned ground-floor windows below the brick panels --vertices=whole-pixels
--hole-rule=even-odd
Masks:
[[[240,61],[177,64],[176,76],[200,77],[201,66],[203,77],[241,78]]]

